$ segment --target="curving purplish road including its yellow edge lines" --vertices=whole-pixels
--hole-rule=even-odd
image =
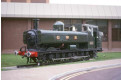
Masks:
[[[92,70],[77,71],[55,80],[121,80],[121,65]]]

